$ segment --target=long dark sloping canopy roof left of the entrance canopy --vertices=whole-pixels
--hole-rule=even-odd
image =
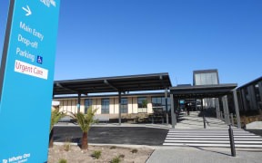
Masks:
[[[117,91],[156,91],[171,87],[168,73],[66,80],[54,82],[54,95]]]

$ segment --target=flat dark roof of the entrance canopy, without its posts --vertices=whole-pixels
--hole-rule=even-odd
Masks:
[[[170,93],[178,99],[217,98],[237,88],[237,83],[171,87]]]

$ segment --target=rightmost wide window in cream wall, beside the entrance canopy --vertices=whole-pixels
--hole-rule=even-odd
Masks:
[[[165,97],[153,97],[152,98],[153,110],[166,111],[166,98]],[[167,110],[171,109],[170,98],[167,98]]]

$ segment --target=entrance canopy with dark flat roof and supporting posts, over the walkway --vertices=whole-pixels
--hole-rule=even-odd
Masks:
[[[224,113],[226,121],[229,119],[228,105],[227,105],[227,95],[232,94],[234,96],[235,110],[237,115],[237,127],[240,127],[240,118],[237,102],[237,83],[230,84],[216,84],[216,85],[195,85],[195,86],[177,86],[170,88],[170,98],[171,98],[171,117],[172,126],[175,128],[176,115],[175,108],[178,106],[178,100],[180,99],[204,99],[204,98],[222,98]],[[225,104],[225,105],[224,105]],[[176,105],[176,106],[175,106]],[[219,102],[217,103],[219,111]],[[228,122],[228,121],[227,121]],[[229,122],[228,122],[229,123]]]

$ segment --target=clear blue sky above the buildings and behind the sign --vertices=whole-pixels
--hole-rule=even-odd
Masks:
[[[203,69],[239,85],[262,75],[261,0],[61,0],[55,80],[169,72],[176,85]]]

